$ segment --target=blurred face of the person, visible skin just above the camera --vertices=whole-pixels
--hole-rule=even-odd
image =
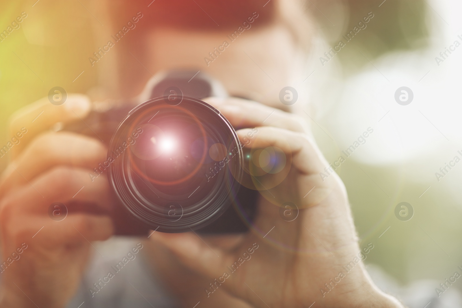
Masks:
[[[304,79],[289,31],[280,25],[251,27],[234,41],[232,33],[155,30],[148,39],[150,66],[153,71],[197,68],[219,79],[230,95],[285,108],[280,90]]]

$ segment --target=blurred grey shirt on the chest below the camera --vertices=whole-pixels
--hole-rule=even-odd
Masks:
[[[138,243],[134,237],[113,237],[93,243],[90,265],[67,307],[179,307],[147,265]]]

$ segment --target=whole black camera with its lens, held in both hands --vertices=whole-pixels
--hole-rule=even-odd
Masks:
[[[107,176],[114,206],[107,213],[73,201],[70,208],[109,214],[117,235],[247,231],[259,195],[241,185],[248,155],[226,118],[201,101],[226,96],[210,76],[175,70],[148,82],[144,103],[95,103],[85,119],[63,130],[108,146],[106,161],[89,176]]]

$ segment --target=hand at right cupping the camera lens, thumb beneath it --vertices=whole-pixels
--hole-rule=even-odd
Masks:
[[[346,190],[335,174],[322,180],[320,172],[328,163],[304,120],[243,99],[211,98],[207,103],[234,127],[249,127],[237,131],[241,141],[252,135],[250,127],[257,127],[246,147],[278,147],[292,165],[283,179],[275,182],[277,176],[268,175],[267,181],[263,177],[255,183],[268,190],[260,191],[258,215],[246,235],[201,236],[206,244],[192,232],[152,234],[182,266],[208,278],[198,298],[206,304],[216,291],[226,290],[261,308],[306,308],[313,302],[313,307],[402,307],[374,286],[362,261],[349,272],[343,269],[360,252]],[[299,208],[293,221],[280,217],[285,202]],[[244,253],[251,258],[242,261]],[[331,283],[340,272],[345,277]]]

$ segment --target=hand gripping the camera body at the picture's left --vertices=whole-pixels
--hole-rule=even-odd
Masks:
[[[22,127],[27,133],[9,150],[12,162],[0,177],[1,307],[65,307],[90,254],[98,253],[91,242],[114,232],[107,216],[49,217],[54,202],[109,208],[107,178],[91,181],[89,176],[106,160],[104,145],[75,133],[49,131],[56,122],[81,121],[89,111],[88,97],[69,95],[61,106],[43,98],[12,117],[10,138]]]

